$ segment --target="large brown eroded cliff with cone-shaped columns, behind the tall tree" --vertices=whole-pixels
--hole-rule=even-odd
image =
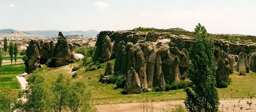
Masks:
[[[188,49],[193,37],[168,33],[138,33],[132,31],[101,31],[97,36],[94,60],[101,62],[116,58],[115,74],[125,74],[124,91],[139,93],[143,89],[179,82],[187,77]],[[256,45],[214,41],[217,82],[229,82],[229,70],[255,70]]]

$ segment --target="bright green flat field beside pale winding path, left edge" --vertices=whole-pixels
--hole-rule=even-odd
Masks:
[[[24,73],[25,65],[23,63],[4,65],[1,70],[0,89],[19,89],[20,84],[15,76]]]

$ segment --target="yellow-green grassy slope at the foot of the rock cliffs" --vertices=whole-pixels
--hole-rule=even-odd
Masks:
[[[111,60],[114,63],[114,60]],[[78,62],[82,63],[82,61]],[[65,67],[59,68],[43,68],[36,71],[36,74],[42,75],[48,81],[48,84],[51,84],[52,81],[58,76],[58,74],[67,74],[68,77],[71,77],[70,69],[72,66],[77,65],[78,63],[71,64]],[[104,73],[104,67],[106,63],[102,63],[102,69],[94,70],[94,71],[85,71],[83,68],[76,71],[77,78],[73,80],[81,80],[86,82],[90,90],[92,91],[92,102],[95,105],[99,105],[100,103],[108,104],[108,103],[124,103],[124,102],[140,102],[141,100],[152,100],[152,101],[169,101],[169,100],[182,100],[186,98],[186,93],[180,90],[171,90],[164,92],[145,92],[141,94],[121,94],[122,89],[114,89],[114,84],[102,84],[98,82],[99,75]],[[241,98],[247,97],[250,91],[250,95],[255,97],[256,94],[256,86],[254,86],[254,80],[256,79],[255,73],[249,73],[247,76],[239,76],[235,71],[234,74],[230,75],[233,82],[226,89],[218,89],[220,99],[230,99],[232,98]],[[251,83],[248,83],[251,82]]]

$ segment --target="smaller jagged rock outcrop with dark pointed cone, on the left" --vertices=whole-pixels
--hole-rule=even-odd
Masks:
[[[59,32],[58,43],[55,45],[53,41],[31,40],[26,53],[25,71],[28,74],[37,69],[38,63],[45,64],[47,60],[51,60],[53,66],[59,67],[68,65],[68,60],[72,58],[75,60],[83,58],[83,54],[74,53],[73,44],[68,43],[61,32]]]

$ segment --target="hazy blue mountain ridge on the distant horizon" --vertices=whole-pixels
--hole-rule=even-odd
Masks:
[[[14,29],[2,29],[0,34],[10,34]],[[40,35],[46,37],[58,37],[58,30],[34,30],[34,31],[24,31],[29,35]],[[61,31],[63,35],[83,35],[83,37],[95,37],[99,34],[99,31],[87,30],[87,31]]]

